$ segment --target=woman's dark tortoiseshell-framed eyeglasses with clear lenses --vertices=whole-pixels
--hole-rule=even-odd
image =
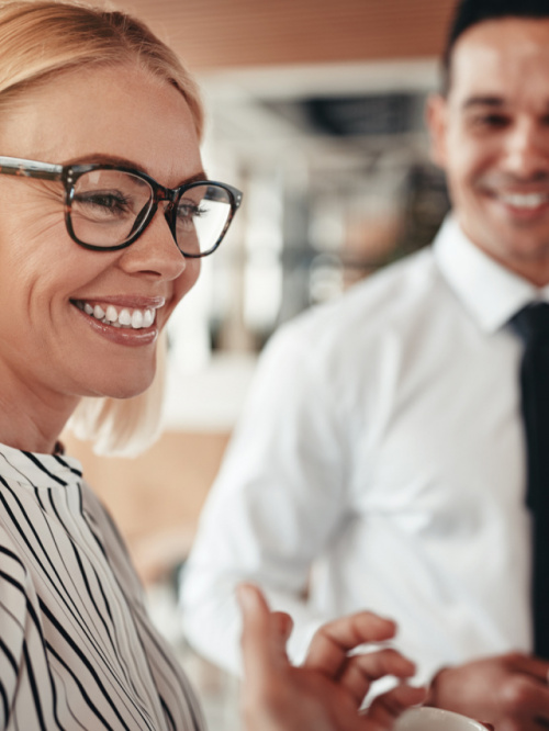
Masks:
[[[220,246],[243,196],[214,180],[165,188],[139,170],[101,162],[53,165],[0,156],[0,175],[63,182],[67,232],[93,251],[133,244],[165,203],[164,215],[181,254],[205,257]]]

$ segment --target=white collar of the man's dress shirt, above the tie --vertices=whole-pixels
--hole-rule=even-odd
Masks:
[[[528,302],[549,302],[549,284],[539,289],[484,254],[448,216],[434,243],[435,260],[470,315],[495,333]]]

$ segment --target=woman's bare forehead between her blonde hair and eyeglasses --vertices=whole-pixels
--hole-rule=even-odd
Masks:
[[[184,97],[137,65],[59,75],[31,89],[2,116],[3,155],[63,162],[104,154],[178,180],[200,169]]]

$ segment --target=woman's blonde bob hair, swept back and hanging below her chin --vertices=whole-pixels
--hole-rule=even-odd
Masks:
[[[182,93],[201,138],[203,108],[194,80],[142,21],[78,2],[0,1],[0,114],[59,74],[127,64],[137,64]],[[99,453],[130,457],[143,451],[160,431],[165,368],[163,334],[147,391],[126,400],[82,398],[68,426],[80,439],[92,440]]]

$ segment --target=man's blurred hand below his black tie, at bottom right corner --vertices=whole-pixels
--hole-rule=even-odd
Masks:
[[[495,731],[549,728],[549,662],[519,653],[486,657],[441,670],[429,706],[494,726]]]

